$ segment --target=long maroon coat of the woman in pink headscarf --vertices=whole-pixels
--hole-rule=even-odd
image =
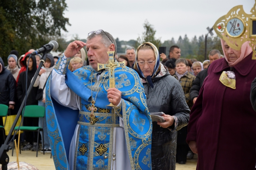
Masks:
[[[214,61],[191,109],[187,142],[196,141],[197,170],[254,170],[256,112],[250,90],[256,72],[252,53],[232,67],[236,89],[219,78],[230,71],[225,58]]]

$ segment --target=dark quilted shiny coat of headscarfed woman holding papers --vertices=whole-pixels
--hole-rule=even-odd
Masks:
[[[167,73],[160,78],[152,78],[154,88],[143,83],[150,113],[164,112],[177,117],[176,130],[188,124],[189,108],[180,82]],[[152,130],[152,170],[174,170],[176,164],[177,131],[160,127],[153,122]]]

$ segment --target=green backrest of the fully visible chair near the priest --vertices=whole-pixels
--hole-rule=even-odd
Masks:
[[[28,105],[25,108],[24,117],[44,117],[45,107]]]

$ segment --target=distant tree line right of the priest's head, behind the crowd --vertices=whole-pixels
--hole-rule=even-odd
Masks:
[[[130,41],[119,41],[116,39],[117,45],[117,53],[125,53],[125,48],[121,48],[121,45],[130,45],[137,48],[143,42],[152,42],[156,45],[157,48],[159,47],[166,47],[166,55],[169,55],[169,49],[171,46],[176,45],[181,49],[181,57],[182,58],[196,58],[198,61],[204,61],[204,54],[205,54],[205,36],[201,35],[198,38],[194,36],[193,39],[189,39],[187,34],[182,38],[179,37],[178,41],[175,41],[174,38],[164,41],[161,43],[160,38],[156,38],[156,30],[154,26],[151,25],[147,20],[143,24],[145,32],[142,33],[137,40],[130,40]],[[218,49],[221,53],[222,47],[220,43],[220,38],[218,36],[208,36],[207,37],[207,56],[212,49]],[[207,57],[208,58],[208,57]]]

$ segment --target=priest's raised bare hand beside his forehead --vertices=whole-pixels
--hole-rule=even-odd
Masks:
[[[79,40],[75,40],[73,42],[70,42],[68,44],[68,47],[66,48],[64,55],[67,58],[73,57],[74,55],[76,55],[78,53],[78,51],[80,51],[81,48],[83,48],[84,46],[86,46],[86,43],[84,43],[83,41],[79,41]]]

